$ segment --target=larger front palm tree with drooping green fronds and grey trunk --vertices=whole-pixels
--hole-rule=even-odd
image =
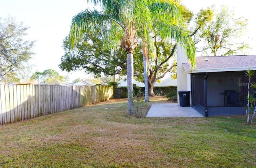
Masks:
[[[88,2],[102,6],[102,12],[85,10],[74,16],[69,34],[70,44],[74,47],[76,41],[88,30],[100,29],[106,22],[111,24],[105,44],[106,47],[116,47],[121,41],[122,47],[126,50],[127,114],[133,114],[133,51],[138,43],[138,33],[142,33],[144,39],[149,39],[147,29],[152,30],[156,21],[161,22],[166,19],[179,21],[181,14],[174,4],[159,0],[88,0]],[[165,27],[161,29],[157,27],[160,33],[170,35],[171,32],[168,33],[169,30],[165,29],[168,26],[161,25]],[[187,45],[184,46],[186,49]],[[190,52],[188,57],[194,63],[193,52]]]

